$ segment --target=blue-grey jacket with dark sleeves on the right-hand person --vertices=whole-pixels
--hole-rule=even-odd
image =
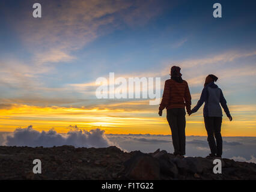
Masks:
[[[204,116],[222,116],[221,106],[223,107],[226,115],[230,117],[230,110],[228,110],[227,101],[221,89],[214,82],[208,83],[202,91],[200,100],[191,111],[197,112],[198,109],[204,104]],[[221,103],[221,106],[219,105]]]

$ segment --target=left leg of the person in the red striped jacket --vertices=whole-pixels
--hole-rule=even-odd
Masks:
[[[178,154],[180,151],[180,145],[178,140],[178,127],[177,127],[177,115],[173,109],[167,110],[167,121],[171,128],[172,144],[174,147],[174,154]]]

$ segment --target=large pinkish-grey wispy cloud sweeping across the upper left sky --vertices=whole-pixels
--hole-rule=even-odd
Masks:
[[[43,1],[43,17],[34,19],[33,3],[22,2],[16,14],[12,14],[13,7],[5,5],[5,18],[19,31],[17,35],[31,56],[23,62],[15,57],[0,61],[2,86],[46,90],[39,77],[57,73],[56,64],[74,61],[76,50],[115,29],[144,25],[162,8],[156,1]]]

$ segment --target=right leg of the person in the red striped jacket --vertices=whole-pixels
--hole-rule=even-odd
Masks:
[[[178,124],[178,139],[180,141],[180,155],[186,154],[186,112],[185,109],[178,109],[177,124]]]

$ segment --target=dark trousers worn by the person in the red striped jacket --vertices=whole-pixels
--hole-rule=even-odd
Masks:
[[[172,144],[174,146],[174,154],[186,154],[186,112],[183,108],[175,108],[167,110],[167,121],[171,128]]]

